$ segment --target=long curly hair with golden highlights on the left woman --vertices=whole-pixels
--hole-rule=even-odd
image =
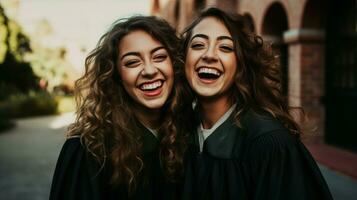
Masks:
[[[85,73],[76,81],[77,118],[68,135],[81,136],[82,144],[100,166],[111,169],[110,183],[126,185],[129,192],[138,183],[143,169],[140,151],[143,143],[140,122],[133,111],[133,100],[122,85],[117,70],[119,42],[135,30],[143,30],[159,41],[173,63],[174,88],[162,108],[160,160],[170,180],[182,172],[186,143],[183,130],[177,128],[179,118],[173,113],[183,106],[177,101],[184,96],[182,79],[176,73],[182,68],[178,53],[180,41],[175,30],[164,20],[153,16],[134,16],[116,21],[99,40],[85,60]]]

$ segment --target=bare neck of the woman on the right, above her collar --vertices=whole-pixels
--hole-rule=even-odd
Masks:
[[[200,99],[202,126],[210,129],[232,106],[228,97]]]

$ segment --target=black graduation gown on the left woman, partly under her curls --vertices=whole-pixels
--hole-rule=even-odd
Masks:
[[[159,140],[143,128],[144,162],[141,181],[129,198],[124,186],[111,187],[110,174],[99,165],[80,143],[80,138],[67,139],[60,152],[53,176],[50,200],[121,200],[177,199],[176,185],[166,181],[159,161]],[[145,182],[145,183],[144,183]]]

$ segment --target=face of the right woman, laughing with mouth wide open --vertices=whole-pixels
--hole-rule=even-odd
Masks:
[[[206,17],[192,31],[185,73],[202,98],[227,97],[234,83],[237,59],[231,34],[220,20]]]

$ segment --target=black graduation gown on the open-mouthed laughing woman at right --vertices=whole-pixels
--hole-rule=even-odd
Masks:
[[[330,200],[311,154],[272,117],[231,116],[204,142],[197,133],[186,165],[183,199]]]

